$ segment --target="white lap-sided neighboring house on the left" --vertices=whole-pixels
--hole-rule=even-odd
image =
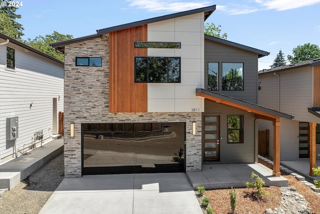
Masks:
[[[41,143],[41,132],[43,143],[58,134],[63,69],[63,62],[0,33],[0,162]],[[17,122],[14,137],[7,118]]]

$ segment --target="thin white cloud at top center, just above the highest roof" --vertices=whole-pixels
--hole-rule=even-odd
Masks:
[[[127,0],[130,7],[146,10],[148,12],[180,12],[210,6],[210,2],[182,2],[176,0]]]

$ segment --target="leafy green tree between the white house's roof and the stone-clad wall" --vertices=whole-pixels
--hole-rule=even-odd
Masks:
[[[37,36],[33,40],[28,38],[27,41],[24,41],[24,43],[47,55],[50,55],[60,61],[63,61],[64,60],[63,54],[56,53],[55,50],[52,47],[50,47],[50,44],[55,42],[65,41],[65,40],[71,40],[71,39],[73,39],[72,35],[68,35],[68,34],[63,35],[54,31],[51,35],[45,35],[45,37]]]

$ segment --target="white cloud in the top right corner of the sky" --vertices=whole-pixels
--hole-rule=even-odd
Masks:
[[[320,3],[320,0],[255,0],[267,10],[285,11]]]

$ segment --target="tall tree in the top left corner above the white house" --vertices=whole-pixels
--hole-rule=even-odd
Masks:
[[[9,1],[1,1],[8,3]],[[8,5],[8,4],[7,4]],[[21,19],[21,15],[15,14],[16,7],[0,7],[0,32],[12,37],[16,40],[21,40],[24,34],[22,25],[17,23],[16,19]]]

